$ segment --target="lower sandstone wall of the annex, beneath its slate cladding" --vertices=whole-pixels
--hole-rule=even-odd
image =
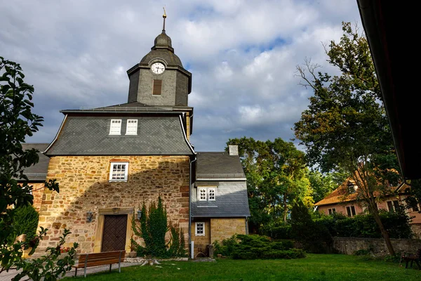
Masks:
[[[246,218],[211,218],[210,243],[221,242],[234,234],[246,234]]]

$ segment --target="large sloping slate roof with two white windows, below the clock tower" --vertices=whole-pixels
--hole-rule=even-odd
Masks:
[[[121,135],[110,136],[111,119],[121,119]],[[138,134],[126,136],[126,120],[138,119]],[[178,115],[67,115],[46,155],[193,155]]]

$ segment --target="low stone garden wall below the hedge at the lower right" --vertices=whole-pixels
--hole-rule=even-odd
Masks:
[[[391,239],[396,254],[401,252],[415,253],[421,248],[421,240]],[[389,254],[385,240],[382,238],[333,237],[333,248],[341,254],[354,254],[359,249],[371,249],[377,256]]]

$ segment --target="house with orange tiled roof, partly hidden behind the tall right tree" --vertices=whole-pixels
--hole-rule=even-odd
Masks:
[[[390,195],[385,197],[382,202],[377,203],[378,209],[385,209],[387,211],[395,211],[399,204],[404,205],[406,197],[404,191],[408,188],[405,183],[399,185],[397,188],[391,188]],[[323,214],[341,213],[352,217],[357,214],[363,214],[366,209],[356,202],[357,187],[353,181],[347,180],[338,188],[333,190],[329,195],[314,204],[319,212]],[[421,235],[421,214],[419,209],[407,210],[408,216],[412,218],[411,228],[415,235]]]

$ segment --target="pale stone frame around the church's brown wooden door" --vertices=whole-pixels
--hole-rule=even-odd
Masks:
[[[102,248],[102,233],[104,231],[104,221],[105,215],[127,215],[127,228],[126,228],[126,253],[130,252],[131,244],[131,219],[132,219],[133,209],[128,208],[107,208],[107,209],[98,209],[98,224],[95,228],[95,240],[94,240],[94,253],[100,253]]]

